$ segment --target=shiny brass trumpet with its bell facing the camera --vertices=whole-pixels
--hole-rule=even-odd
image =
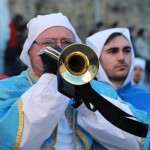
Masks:
[[[71,44],[61,53],[52,47],[45,47],[39,53],[46,53],[57,59],[59,74],[74,85],[90,82],[98,72],[98,57],[93,49],[85,44]]]

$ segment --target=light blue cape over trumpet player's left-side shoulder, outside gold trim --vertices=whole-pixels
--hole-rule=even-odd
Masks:
[[[29,87],[25,72],[0,81],[0,150],[14,147],[18,131],[17,100]]]

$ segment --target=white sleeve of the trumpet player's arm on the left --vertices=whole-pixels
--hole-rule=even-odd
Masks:
[[[51,135],[70,99],[58,92],[57,77],[52,74],[43,74],[21,98],[24,127],[20,149],[39,150]]]

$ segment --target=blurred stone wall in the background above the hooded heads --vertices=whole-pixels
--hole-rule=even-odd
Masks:
[[[82,40],[98,21],[107,27],[118,21],[121,27],[150,30],[150,0],[9,0],[9,5],[12,16],[20,13],[27,21],[37,14],[63,12]]]

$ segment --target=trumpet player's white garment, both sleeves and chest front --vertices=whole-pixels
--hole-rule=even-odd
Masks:
[[[43,142],[51,135],[57,123],[58,137],[55,148],[72,150],[72,129],[64,114],[70,100],[58,92],[56,83],[55,75],[43,74],[38,82],[21,96],[24,112],[21,150],[51,149],[43,145]],[[125,104],[108,97],[105,98],[125,112],[132,114]],[[98,111],[92,112],[84,104],[78,108],[77,122],[94,139],[110,150],[140,149],[140,138],[118,129]],[[79,150],[83,147],[83,143],[79,139],[76,141]]]

